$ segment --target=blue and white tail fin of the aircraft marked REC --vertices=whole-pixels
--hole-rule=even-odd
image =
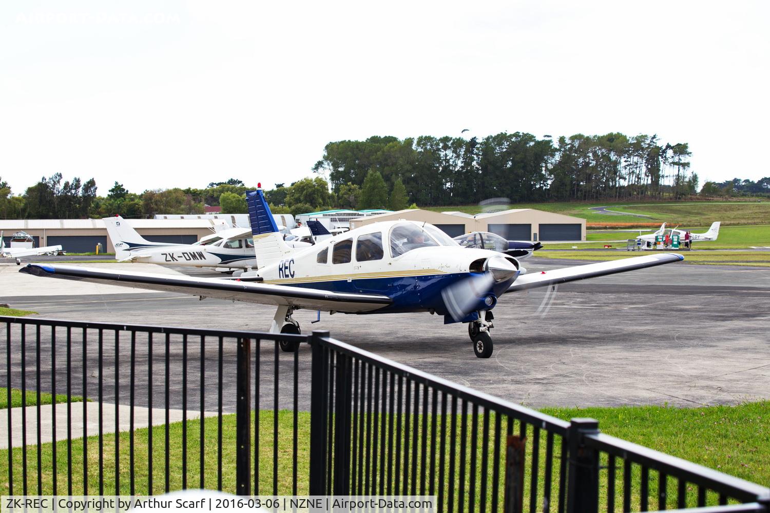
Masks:
[[[261,184],[257,184],[256,191],[246,191],[246,204],[249,205],[257,268],[274,264],[285,255],[293,253],[294,248],[283,242],[283,235],[278,232],[278,225],[267,205]]]

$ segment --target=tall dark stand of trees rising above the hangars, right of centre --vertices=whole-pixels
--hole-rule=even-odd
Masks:
[[[483,139],[420,136],[330,142],[313,171],[334,192],[363,185],[370,170],[387,184],[401,180],[410,202],[467,205],[511,202],[681,198],[698,192],[688,143],[657,135],[551,136],[502,132]]]

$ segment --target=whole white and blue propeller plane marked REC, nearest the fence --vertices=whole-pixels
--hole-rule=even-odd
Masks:
[[[684,260],[675,253],[644,255],[527,274],[519,261],[488,249],[463,248],[434,225],[412,221],[375,222],[335,235],[311,248],[291,248],[270,215],[262,189],[246,193],[255,271],[239,278],[106,271],[67,265],[28,265],[20,271],[276,305],[272,332],[299,333],[293,311],[300,308],[346,314],[425,311],[444,323],[468,324],[479,358],[492,355],[492,309],[503,295],[555,286]],[[284,351],[294,351],[282,342]]]

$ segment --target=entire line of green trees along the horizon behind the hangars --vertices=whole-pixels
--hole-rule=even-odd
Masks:
[[[551,136],[506,132],[483,139],[420,136],[330,142],[314,175],[265,192],[273,212],[330,208],[417,208],[478,203],[504,197],[511,203],[682,198],[698,194],[686,142],[663,144],[657,135]],[[205,188],[129,192],[115,182],[96,195],[93,178],[63,180],[60,173],[14,195],[0,178],[2,218],[126,218],[201,214],[204,205],[245,213],[246,185],[238,178]],[[770,177],[705,182],[705,197],[770,196]]]

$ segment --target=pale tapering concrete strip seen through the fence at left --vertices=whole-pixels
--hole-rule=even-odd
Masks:
[[[85,431],[83,429],[83,403],[73,402],[72,404],[72,438],[82,438],[82,436],[99,435],[99,403],[86,402],[85,415],[87,422]],[[67,404],[60,403],[55,405],[56,410],[56,440],[67,439]],[[11,412],[11,446],[22,447],[24,440],[22,438],[22,411],[26,410],[27,417],[27,445],[37,445],[38,443],[38,414],[37,406],[27,406],[26,408],[11,408],[10,410],[0,410],[0,449],[8,448],[8,411]],[[42,405],[40,407],[40,441],[46,443],[53,441],[53,410],[54,405]],[[118,431],[129,431],[131,428],[131,407],[129,405],[118,406]],[[214,417],[216,411],[204,412],[206,417]],[[187,410],[187,420],[200,418],[200,412]],[[146,428],[148,426],[149,408],[134,407],[134,429]],[[182,410],[169,409],[169,422],[182,421]],[[166,424],[166,409],[152,408],[152,425]],[[102,432],[115,433],[115,405],[102,403]]]

